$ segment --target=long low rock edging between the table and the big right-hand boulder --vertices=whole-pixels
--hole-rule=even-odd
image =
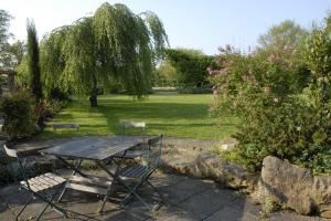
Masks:
[[[167,139],[163,145],[161,164],[166,169],[194,177],[210,178],[224,187],[245,189],[247,192],[255,191],[258,176],[211,154],[213,146],[211,141],[205,140]]]

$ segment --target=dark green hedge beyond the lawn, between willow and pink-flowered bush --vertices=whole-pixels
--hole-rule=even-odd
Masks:
[[[197,50],[167,50],[167,57],[177,69],[177,81],[180,87],[201,87],[207,85],[207,71],[214,56]]]

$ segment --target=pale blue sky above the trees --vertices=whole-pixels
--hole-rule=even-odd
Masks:
[[[10,32],[26,39],[26,19],[35,22],[39,38],[57,27],[92,15],[106,0],[0,0],[0,9],[13,19]],[[171,48],[202,50],[217,54],[231,44],[243,51],[271,25],[290,19],[310,28],[321,23],[331,10],[331,0],[116,0],[135,13],[153,11],[162,20]]]

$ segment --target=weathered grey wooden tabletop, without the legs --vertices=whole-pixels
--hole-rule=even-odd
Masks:
[[[43,149],[41,152],[76,159],[105,160],[141,143],[142,140],[137,138],[122,140],[118,137],[85,137]]]

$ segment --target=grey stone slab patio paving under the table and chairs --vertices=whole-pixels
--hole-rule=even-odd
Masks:
[[[96,171],[93,171],[94,173]],[[98,171],[97,171],[98,172]],[[61,173],[66,176],[67,170]],[[79,191],[70,193],[61,203],[68,211],[68,218],[63,219],[52,210],[47,210],[43,220],[109,220],[109,221],[318,221],[325,220],[318,217],[302,217],[291,211],[275,212],[261,219],[260,206],[254,204],[248,197],[236,191],[222,189],[209,180],[200,180],[188,176],[179,176],[158,171],[151,182],[163,193],[166,202],[158,212],[150,213],[139,201],[132,201],[124,209],[118,203],[107,202],[105,212],[97,214],[96,209],[102,198]],[[142,194],[148,198],[148,188]],[[0,221],[14,220],[14,213],[28,200],[28,196],[18,191],[18,185],[10,185],[0,189]],[[23,213],[23,220],[33,220],[45,204],[35,201]]]

